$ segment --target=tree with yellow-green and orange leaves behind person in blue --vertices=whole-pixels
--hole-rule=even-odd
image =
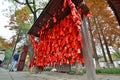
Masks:
[[[15,13],[11,15],[10,23],[7,27],[9,27],[10,30],[15,30],[16,35],[12,37],[14,41],[13,42],[14,48],[13,48],[13,52],[11,55],[11,59],[9,60],[9,63],[11,62],[12,56],[15,53],[17,44],[20,43],[21,46],[23,46],[23,44],[26,43],[27,41],[27,32],[30,28],[29,14],[30,14],[30,11],[28,7],[25,6],[21,9],[16,10]]]

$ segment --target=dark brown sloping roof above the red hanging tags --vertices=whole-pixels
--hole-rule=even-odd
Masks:
[[[88,7],[83,3],[83,0],[72,0],[75,6],[81,6],[83,9],[83,12],[87,14],[89,12]],[[64,9],[64,11],[61,11],[63,8],[64,0],[50,0],[47,4],[47,6],[44,8],[38,19],[33,24],[32,28],[29,30],[28,34],[32,34],[34,36],[39,36],[38,31],[41,29],[42,26],[45,26],[49,22],[49,28],[53,27],[54,24],[56,24],[51,18],[56,13],[56,19],[57,21],[60,21],[61,19],[65,18],[70,13],[70,8],[67,7]],[[78,4],[79,3],[79,4]]]

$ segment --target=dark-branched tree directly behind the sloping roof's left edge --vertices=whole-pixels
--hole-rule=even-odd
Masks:
[[[38,14],[41,13],[43,8],[47,4],[48,0],[41,0],[41,1],[37,1],[37,0],[24,0],[23,2],[21,2],[21,0],[15,0],[15,2],[20,4],[20,5],[27,6],[29,8],[29,10],[32,13],[32,17],[33,17],[33,21],[31,22],[33,24],[36,21],[36,19],[38,17]],[[29,45],[30,56],[32,56],[33,51],[32,51],[31,44],[29,42],[28,42],[28,45]]]

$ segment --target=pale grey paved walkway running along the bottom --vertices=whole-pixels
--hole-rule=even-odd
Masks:
[[[86,75],[69,75],[58,72],[42,72],[31,74],[29,72],[9,72],[0,68],[0,80],[86,80]],[[120,80],[120,75],[97,75],[98,80]]]

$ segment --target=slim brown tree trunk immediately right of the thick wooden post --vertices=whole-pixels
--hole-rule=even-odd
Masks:
[[[89,18],[88,18],[88,25],[89,25],[90,37],[91,37],[92,48],[93,48],[93,57],[95,58],[95,62],[96,62],[96,68],[100,68],[100,64],[99,64],[99,61],[98,61],[99,58],[98,58],[98,55],[97,55],[95,42],[93,40],[92,29],[91,29]]]

